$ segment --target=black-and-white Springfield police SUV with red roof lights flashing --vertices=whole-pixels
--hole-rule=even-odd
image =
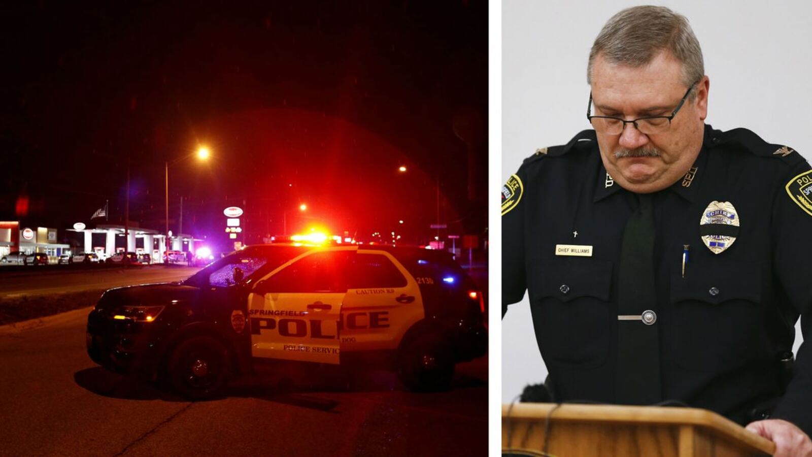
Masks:
[[[383,363],[412,390],[447,388],[486,352],[482,293],[444,252],[248,246],[185,281],[107,290],[90,358],[211,398],[267,360]]]

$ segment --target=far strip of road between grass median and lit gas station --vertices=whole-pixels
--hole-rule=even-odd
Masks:
[[[83,290],[110,289],[131,284],[179,281],[200,268],[149,265],[134,268],[72,268],[54,265],[26,271],[0,271],[0,298],[24,295],[58,294]]]

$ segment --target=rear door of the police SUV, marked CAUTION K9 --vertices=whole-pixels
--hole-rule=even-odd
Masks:
[[[424,314],[417,281],[397,259],[384,250],[358,250],[341,312],[342,350],[396,349]]]

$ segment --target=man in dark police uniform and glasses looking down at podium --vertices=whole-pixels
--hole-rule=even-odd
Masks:
[[[633,7],[590,52],[593,129],[502,189],[503,313],[529,293],[555,401],[717,411],[812,455],[812,171],[705,124],[688,21]]]

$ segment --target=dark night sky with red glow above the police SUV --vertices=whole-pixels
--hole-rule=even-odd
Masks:
[[[22,3],[22,2],[20,2]],[[0,10],[0,220],[248,243],[317,224],[486,230],[486,2],[32,2]],[[405,165],[408,171],[398,172]],[[298,210],[300,203],[308,211]],[[404,220],[404,224],[398,224]],[[97,220],[97,222],[99,222]]]

